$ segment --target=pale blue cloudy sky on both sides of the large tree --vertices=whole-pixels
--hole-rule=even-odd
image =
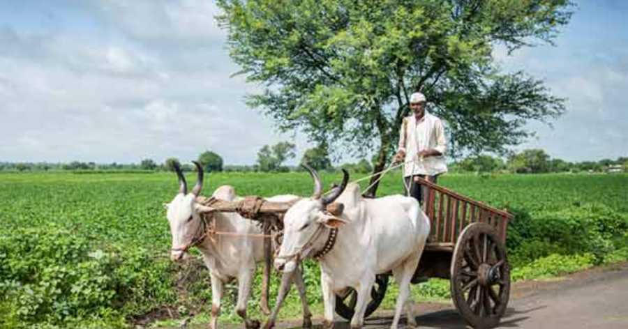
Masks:
[[[297,142],[244,105],[257,90],[225,48],[213,1],[0,1],[0,161],[192,160],[252,164]],[[567,98],[553,128],[516,149],[570,161],[628,156],[628,1],[578,1],[555,46],[495,50]]]

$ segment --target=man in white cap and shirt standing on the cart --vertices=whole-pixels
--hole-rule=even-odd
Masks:
[[[447,149],[440,118],[425,110],[423,93],[410,95],[412,114],[403,118],[399,147],[394,162],[405,162],[403,179],[406,191],[424,204],[428,190],[417,183],[417,177],[436,183],[438,175],[447,172],[444,154]]]

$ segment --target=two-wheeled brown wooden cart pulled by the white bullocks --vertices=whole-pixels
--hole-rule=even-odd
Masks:
[[[419,178],[428,188],[424,211],[431,220],[428,243],[412,283],[428,277],[450,280],[451,298],[465,321],[474,328],[496,326],[510,293],[510,267],[506,255],[506,228],[512,215],[491,208]],[[377,275],[366,316],[384,299],[390,273]],[[357,293],[336,298],[336,313],[349,320]]]

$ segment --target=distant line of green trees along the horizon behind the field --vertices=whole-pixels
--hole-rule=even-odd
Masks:
[[[297,146],[289,141],[281,141],[274,145],[264,145],[257,152],[257,160],[253,165],[224,164],[223,158],[214,151],[204,151],[198,155],[197,161],[207,172],[216,171],[262,171],[262,172],[287,172],[302,171],[301,164],[308,164],[316,170],[347,169],[350,172],[366,174],[373,170],[374,157],[371,161],[361,159],[355,163],[341,164],[334,168],[329,158],[327,144],[320,144],[309,148],[304,152],[299,165],[288,166],[287,160],[296,157]],[[179,164],[183,171],[194,171],[195,167],[190,163],[181,163],[177,158],[167,158],[163,163],[145,158],[139,163],[98,164],[96,162],[73,161],[62,162],[0,162],[0,171],[172,171],[174,164]],[[627,171],[628,157],[620,157],[615,160],[602,159],[599,161],[567,162],[558,158],[551,158],[544,150],[528,149],[519,153],[512,153],[507,158],[492,155],[470,155],[461,160],[449,164],[452,172],[474,173],[498,173],[509,172],[515,174],[540,174],[558,172],[605,172]]]

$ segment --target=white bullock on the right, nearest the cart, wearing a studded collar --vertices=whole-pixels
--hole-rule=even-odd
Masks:
[[[364,199],[359,185],[347,187],[346,171],[343,183],[332,195],[321,197],[320,178],[315,171],[310,169],[310,172],[315,193],[310,199],[297,201],[285,213],[283,244],[275,259],[276,268],[290,273],[298,267],[300,259],[311,257],[324,248],[329,230],[338,229],[336,244],[320,257],[325,327],[331,328],[334,324],[336,293],[351,287],[357,291],[351,328],[360,328],[375,275],[391,270],[399,285],[391,328],[397,328],[404,305],[408,306],[408,323],[416,326],[410,279],[430,231],[430,222],[419,202],[401,195]],[[334,201],[344,205],[341,214],[327,212],[327,205]]]

